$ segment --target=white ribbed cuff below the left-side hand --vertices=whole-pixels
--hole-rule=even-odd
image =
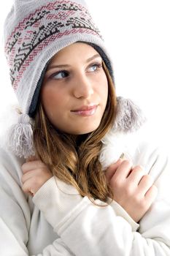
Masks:
[[[54,176],[36,192],[34,204],[43,212],[47,222],[56,227],[72,209],[82,201],[82,196],[73,186]]]

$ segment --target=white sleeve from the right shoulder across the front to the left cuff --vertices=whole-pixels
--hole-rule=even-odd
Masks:
[[[66,186],[62,187],[60,183],[60,189],[54,189],[52,179],[34,196],[36,206],[43,211],[47,221],[74,255],[170,255],[169,159],[158,150],[150,152],[142,148],[143,151],[139,152],[140,157],[134,162],[144,165],[147,173],[153,176],[158,187],[158,197],[139,224],[133,222],[115,202],[101,207],[84,197],[72,205],[72,195],[66,192]],[[50,200],[44,198],[43,189],[51,190]],[[64,189],[63,197],[61,193]],[[102,205],[99,200],[95,203]],[[55,217],[57,208],[60,214]]]

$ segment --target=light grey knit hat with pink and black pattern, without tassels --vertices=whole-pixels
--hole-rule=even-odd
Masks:
[[[109,59],[85,1],[15,0],[5,21],[4,46],[12,87],[23,113],[29,112],[47,61],[78,41],[97,45]]]

